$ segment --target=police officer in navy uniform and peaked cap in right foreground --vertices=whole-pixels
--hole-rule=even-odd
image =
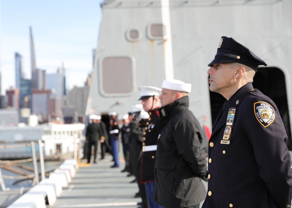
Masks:
[[[223,36],[208,64],[210,90],[226,98],[209,140],[209,207],[290,207],[291,155],[275,103],[253,77],[265,61]]]

